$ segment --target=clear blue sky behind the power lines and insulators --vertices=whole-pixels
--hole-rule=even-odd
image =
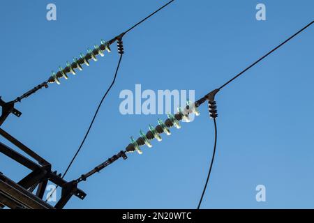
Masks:
[[[13,100],[49,77],[51,70],[87,47],[109,40],[166,1],[3,1],[0,89]],[[57,21],[46,20],[47,3]],[[255,19],[264,3],[267,20]],[[119,112],[124,89],[215,89],[313,21],[313,1],[175,1],[124,37],[125,55],[112,91],[67,180],[78,178],[123,150],[131,135],[165,115]],[[202,208],[314,208],[314,27],[259,63],[216,96],[218,145]],[[91,62],[61,85],[27,98],[2,128],[63,172],[80,144],[119,56]],[[192,123],[152,141],[80,184],[84,201],[66,208],[196,208],[214,144],[207,105]],[[3,139],[1,139],[3,141]],[[29,173],[0,155],[1,172],[19,180]],[[265,185],[266,202],[255,200]]]

